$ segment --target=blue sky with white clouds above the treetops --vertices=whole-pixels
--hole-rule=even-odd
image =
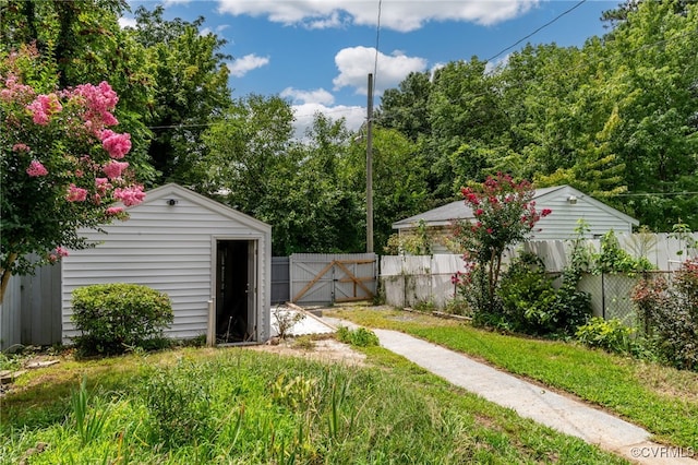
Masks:
[[[385,88],[412,71],[490,59],[527,43],[581,46],[604,33],[599,20],[621,0],[163,0],[130,1],[135,11],[165,7],[165,17],[206,19],[228,44],[233,97],[280,95],[294,108],[299,131],[315,111],[365,120],[368,74],[375,71],[375,106]],[[380,13],[378,13],[380,11]],[[378,28],[380,17],[380,28]],[[555,20],[515,48],[494,57]],[[122,25],[133,22],[127,14]],[[377,46],[377,53],[376,53]],[[377,58],[376,58],[377,57]]]

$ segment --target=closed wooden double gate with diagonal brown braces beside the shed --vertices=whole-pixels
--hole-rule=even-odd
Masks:
[[[294,253],[290,258],[291,301],[333,305],[372,300],[376,263],[374,253]]]

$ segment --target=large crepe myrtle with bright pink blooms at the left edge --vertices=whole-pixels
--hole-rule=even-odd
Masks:
[[[88,247],[79,228],[124,219],[123,207],[145,196],[124,160],[130,134],[109,129],[118,124],[111,86],[38,93],[15,65],[26,58],[0,63],[0,302],[10,276]]]

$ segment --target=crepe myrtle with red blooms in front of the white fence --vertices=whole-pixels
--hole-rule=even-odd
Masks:
[[[535,224],[551,214],[549,208],[535,208],[534,192],[529,181],[515,181],[502,172],[461,189],[474,219],[454,222],[453,240],[462,252],[466,271],[453,276],[453,282],[476,313],[497,313],[504,251],[527,240]]]

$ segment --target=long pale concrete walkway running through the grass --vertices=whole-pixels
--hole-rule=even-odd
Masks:
[[[356,327],[353,323],[323,318],[328,324]],[[509,407],[520,416],[557,431],[581,438],[588,443],[614,452],[638,464],[696,465],[691,456],[698,451],[653,443],[650,433],[583,402],[559,395],[540,385],[410,335],[388,330],[373,330],[381,345],[395,354],[478,394],[495,404]]]

